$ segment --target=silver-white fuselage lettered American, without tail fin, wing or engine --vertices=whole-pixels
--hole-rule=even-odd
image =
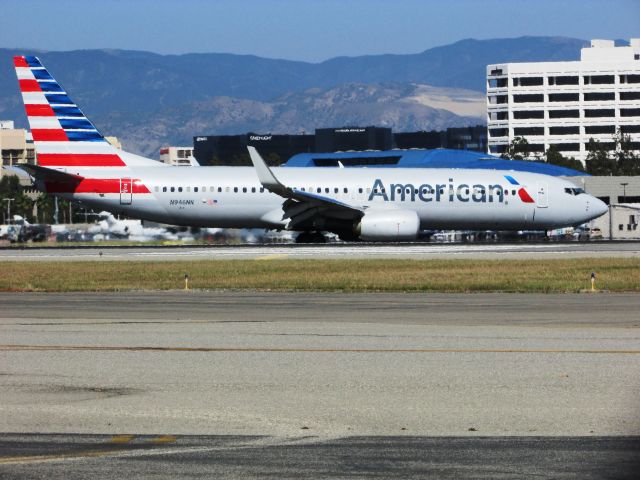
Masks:
[[[114,178],[109,168],[77,170],[74,173],[89,178]],[[568,193],[576,187],[571,182],[527,172],[320,167],[272,171],[287,187],[357,205],[365,212],[415,211],[421,229],[542,230],[578,225],[606,210],[590,195]],[[124,180],[120,193],[96,189],[62,196],[92,208],[174,225],[280,229],[287,224],[284,199],[265,190],[251,167],[129,166],[125,173],[118,169],[117,177],[133,180],[128,185]],[[143,185],[145,192],[134,184]]]

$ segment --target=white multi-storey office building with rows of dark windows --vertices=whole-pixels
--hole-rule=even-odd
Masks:
[[[556,145],[584,163],[589,139],[613,149],[618,129],[640,151],[640,39],[592,40],[576,62],[488,65],[487,125],[492,154],[524,137],[534,155]]]

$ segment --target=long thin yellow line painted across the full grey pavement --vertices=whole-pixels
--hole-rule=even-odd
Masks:
[[[296,348],[296,347],[126,347],[97,345],[0,345],[1,350],[128,352],[273,352],[273,353],[604,353],[640,355],[640,350],[553,348]]]

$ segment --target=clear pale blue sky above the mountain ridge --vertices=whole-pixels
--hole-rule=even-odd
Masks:
[[[640,37],[640,0],[2,0],[0,47],[322,61],[463,38]]]

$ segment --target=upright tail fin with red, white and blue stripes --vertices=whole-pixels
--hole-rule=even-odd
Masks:
[[[40,166],[163,165],[112,146],[69,98],[38,57],[16,56],[13,62]]]

